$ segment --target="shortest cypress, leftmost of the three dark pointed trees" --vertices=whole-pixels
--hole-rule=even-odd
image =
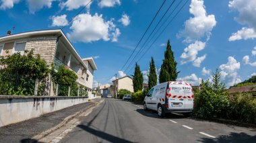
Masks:
[[[143,88],[143,75],[136,62],[135,71],[133,75],[133,91],[137,92]]]

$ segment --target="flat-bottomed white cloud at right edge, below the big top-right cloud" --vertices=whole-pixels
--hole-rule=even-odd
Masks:
[[[253,28],[242,28],[238,30],[236,33],[232,33],[232,36],[228,38],[228,41],[236,41],[236,40],[248,40],[256,38],[256,32]]]

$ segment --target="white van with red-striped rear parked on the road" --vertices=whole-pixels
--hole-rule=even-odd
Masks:
[[[154,86],[144,98],[144,110],[158,111],[160,117],[165,113],[183,113],[193,111],[194,93],[191,85],[185,82],[169,81]]]

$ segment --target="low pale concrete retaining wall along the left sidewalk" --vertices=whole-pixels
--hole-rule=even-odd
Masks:
[[[87,101],[85,97],[0,96],[0,127]]]

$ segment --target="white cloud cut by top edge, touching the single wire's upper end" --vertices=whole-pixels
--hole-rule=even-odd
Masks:
[[[84,7],[88,4],[86,8],[89,11],[90,5],[92,4],[90,1],[91,0],[67,0],[65,3],[60,3],[60,6],[62,9],[67,7],[67,10],[71,11],[73,9],[79,9],[79,7]]]

